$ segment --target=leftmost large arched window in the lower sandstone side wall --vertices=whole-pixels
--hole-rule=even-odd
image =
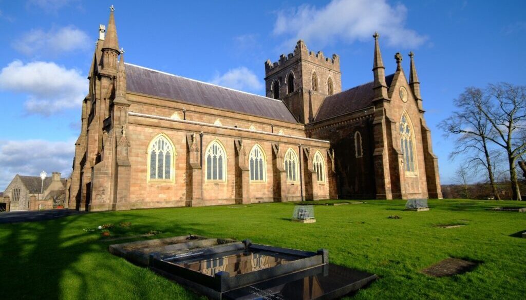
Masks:
[[[148,180],[174,180],[174,145],[167,136],[155,137],[148,147]]]

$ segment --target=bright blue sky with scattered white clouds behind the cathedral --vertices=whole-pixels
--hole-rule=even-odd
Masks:
[[[264,62],[294,49],[340,55],[342,87],[372,80],[375,30],[386,73],[415,53],[441,180],[453,141],[438,122],[465,87],[526,84],[524,1],[0,0],[0,191],[14,174],[71,170],[98,25],[115,6],[129,63],[264,94]]]

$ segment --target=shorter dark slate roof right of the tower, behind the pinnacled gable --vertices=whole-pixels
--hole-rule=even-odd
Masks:
[[[395,77],[395,74],[386,76],[388,89],[391,86],[393,77]],[[367,82],[367,84],[356,86],[325,98],[318,110],[315,121],[345,115],[346,113],[372,106],[371,101],[375,98],[375,92],[372,90],[374,83],[373,81]]]

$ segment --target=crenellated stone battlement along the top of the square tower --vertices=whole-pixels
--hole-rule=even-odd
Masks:
[[[338,71],[340,69],[340,57],[337,54],[333,54],[332,58],[329,58],[323,55],[323,51],[318,51],[317,53],[309,51],[305,42],[300,39],[298,40],[293,53],[289,53],[288,55],[281,54],[279,60],[274,63],[272,63],[270,59],[267,59],[267,61],[265,61],[265,73],[268,74],[269,71],[280,69],[281,67],[288,65],[289,62],[301,58],[307,59],[312,63],[326,66],[330,69],[337,69]]]

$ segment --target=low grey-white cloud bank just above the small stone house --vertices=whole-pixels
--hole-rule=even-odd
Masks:
[[[16,174],[38,176],[61,172],[67,177],[72,171],[75,141],[46,140],[0,141],[0,191],[4,191]]]

